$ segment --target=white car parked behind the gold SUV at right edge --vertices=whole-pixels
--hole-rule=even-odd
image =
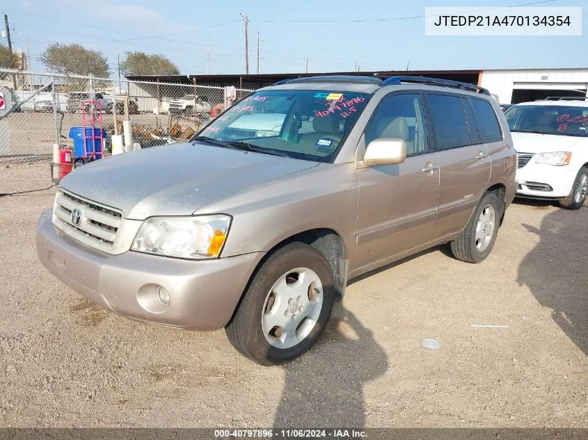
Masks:
[[[579,209],[588,194],[588,102],[525,102],[504,115],[518,152],[516,194]]]

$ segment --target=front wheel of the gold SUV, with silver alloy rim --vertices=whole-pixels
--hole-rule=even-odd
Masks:
[[[334,300],[335,279],[325,256],[289,243],[257,271],[225,332],[242,355],[262,365],[281,364],[317,341]]]

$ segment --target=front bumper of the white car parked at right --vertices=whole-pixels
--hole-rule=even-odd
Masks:
[[[519,197],[559,198],[567,197],[578,170],[571,165],[553,166],[534,163],[535,158],[516,170],[516,195]]]

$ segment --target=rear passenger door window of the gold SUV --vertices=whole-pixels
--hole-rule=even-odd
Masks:
[[[459,97],[427,94],[435,130],[436,149],[450,149],[470,145],[466,113]]]

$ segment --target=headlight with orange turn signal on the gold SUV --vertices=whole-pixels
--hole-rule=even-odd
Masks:
[[[228,215],[148,218],[131,250],[195,260],[216,258],[225,244],[230,222]]]

